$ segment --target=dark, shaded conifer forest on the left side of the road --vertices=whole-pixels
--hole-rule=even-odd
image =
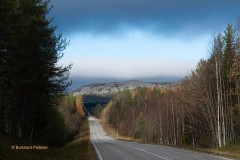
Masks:
[[[56,34],[49,1],[0,1],[0,133],[63,146],[79,131],[82,97],[67,95],[68,41]]]

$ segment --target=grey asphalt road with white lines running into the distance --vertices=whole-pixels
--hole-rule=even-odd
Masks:
[[[99,122],[89,116],[90,137],[99,160],[230,160],[228,158],[161,145],[112,139]]]

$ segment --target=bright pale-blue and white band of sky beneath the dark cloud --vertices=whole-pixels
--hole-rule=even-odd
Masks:
[[[71,76],[78,77],[182,77],[206,56],[209,37],[166,39],[142,31],[124,37],[75,34],[60,64],[73,63]]]

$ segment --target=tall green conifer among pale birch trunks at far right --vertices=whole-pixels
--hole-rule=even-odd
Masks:
[[[235,88],[235,84],[229,81],[229,74],[231,67],[236,56],[237,49],[237,35],[236,30],[231,24],[228,24],[224,31],[224,54],[223,54],[223,87],[225,90],[224,94],[224,105],[222,109],[222,128],[223,130],[223,142],[226,145],[229,140],[234,137],[233,129],[233,106],[236,103],[235,97],[231,96],[231,91]]]

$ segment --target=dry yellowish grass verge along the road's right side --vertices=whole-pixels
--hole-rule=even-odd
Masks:
[[[98,121],[100,122],[104,131],[110,137],[112,137],[114,139],[146,143],[146,142],[142,142],[141,139],[134,139],[132,137],[119,135],[119,134],[117,134],[117,131],[113,125],[107,124],[106,122],[104,122],[100,119],[98,119]],[[217,156],[224,156],[224,157],[229,157],[229,158],[233,158],[236,160],[240,160],[240,145],[229,145],[227,147],[222,147],[222,148],[201,148],[201,147],[192,147],[192,146],[171,146],[171,147],[187,149],[187,150],[192,150],[192,151],[198,151],[198,152],[202,152],[202,153],[213,154],[213,155],[217,155]]]

